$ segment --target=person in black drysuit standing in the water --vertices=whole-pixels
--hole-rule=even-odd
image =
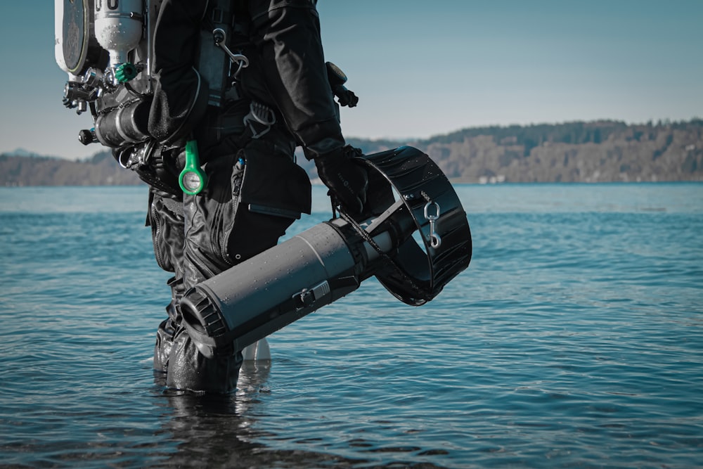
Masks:
[[[214,0],[165,0],[155,32],[156,87],[148,127],[159,146],[153,158],[159,181],[150,189],[148,224],[157,262],[174,276],[168,318],[157,330],[154,368],[165,373],[168,387],[231,392],[241,352],[218,349],[212,359],[201,354],[181,325],[179,298],[273,247],[299,214],[310,212],[310,182],[295,163],[296,146],[314,159],[330,195],[349,212],[361,212],[368,178],[350,159],[359,150],[342,136],[316,0],[231,2],[228,46],[249,63],[231,77],[235,84],[221,107],[204,104],[204,77],[195,70],[198,39],[217,15],[213,3],[217,6]],[[252,103],[264,120],[251,118]],[[208,178],[197,195],[172,190],[186,139],[197,141]]]

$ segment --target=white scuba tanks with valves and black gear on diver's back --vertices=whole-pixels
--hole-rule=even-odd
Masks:
[[[79,141],[110,148],[149,138],[150,49],[161,0],[55,0],[55,57],[68,75],[63,103],[90,110]]]

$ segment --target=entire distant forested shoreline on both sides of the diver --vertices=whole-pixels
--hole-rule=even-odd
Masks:
[[[420,141],[348,139],[364,153],[425,151],[457,182],[703,181],[703,120],[477,127]],[[97,147],[96,147],[97,148]],[[314,164],[298,158],[313,178]],[[0,186],[141,184],[110,152],[89,160],[0,155]]]

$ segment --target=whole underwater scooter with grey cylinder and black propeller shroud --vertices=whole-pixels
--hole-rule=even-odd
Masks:
[[[401,147],[359,162],[369,173],[363,215],[340,212],[186,292],[179,309],[202,354],[244,349],[372,276],[420,306],[467,268],[466,214],[429,156]]]

